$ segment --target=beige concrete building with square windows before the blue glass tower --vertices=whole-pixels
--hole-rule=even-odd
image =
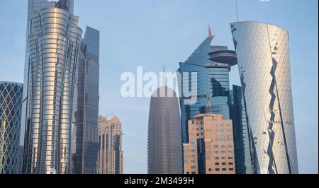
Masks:
[[[184,143],[185,174],[235,174],[232,120],[222,114],[198,114],[188,122]]]

